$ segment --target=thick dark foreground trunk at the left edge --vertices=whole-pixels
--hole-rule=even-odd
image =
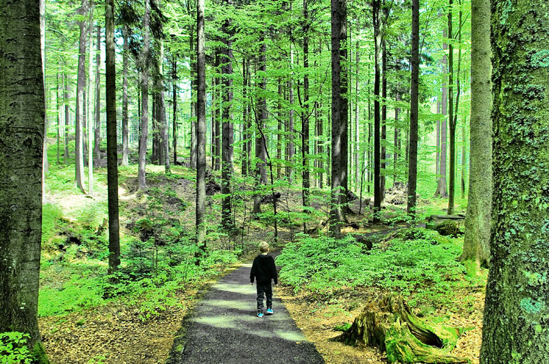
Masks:
[[[25,29],[24,32],[22,29]],[[38,1],[0,3],[0,332],[38,331],[45,97]]]

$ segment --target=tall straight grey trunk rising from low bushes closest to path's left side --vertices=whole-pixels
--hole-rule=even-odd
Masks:
[[[196,7],[196,239],[205,249],[206,213],[206,55],[204,0]]]

